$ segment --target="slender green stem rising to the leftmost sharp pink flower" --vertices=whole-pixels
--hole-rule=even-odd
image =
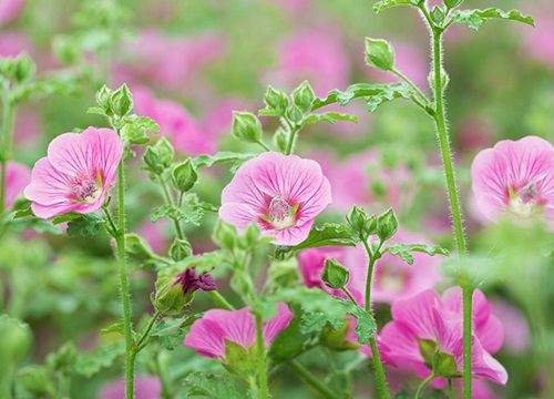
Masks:
[[[117,217],[119,229],[115,236],[117,244],[117,262],[120,264],[120,291],[123,307],[123,331],[125,336],[125,398],[134,398],[134,360],[136,347],[133,342],[131,326],[131,290],[125,257],[125,165],[121,160],[117,166]]]

